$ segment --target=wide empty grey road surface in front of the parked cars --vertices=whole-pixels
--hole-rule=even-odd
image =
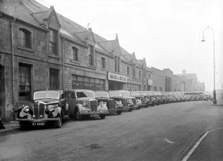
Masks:
[[[212,102],[181,102],[17,130],[0,135],[0,160],[180,161],[201,135],[223,125],[222,116]]]

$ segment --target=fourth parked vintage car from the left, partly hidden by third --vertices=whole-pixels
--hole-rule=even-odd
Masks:
[[[123,111],[131,112],[134,108],[133,97],[130,95],[129,91],[125,90],[115,90],[108,92],[110,97],[115,101],[122,101]]]

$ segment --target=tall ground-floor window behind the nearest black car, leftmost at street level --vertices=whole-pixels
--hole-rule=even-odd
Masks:
[[[31,66],[19,64],[19,100],[31,99]]]

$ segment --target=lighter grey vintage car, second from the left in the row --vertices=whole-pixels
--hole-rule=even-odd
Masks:
[[[105,119],[106,114],[109,114],[106,102],[98,102],[92,90],[65,90],[64,97],[69,104],[69,113],[77,120],[90,116],[99,116],[101,119]]]

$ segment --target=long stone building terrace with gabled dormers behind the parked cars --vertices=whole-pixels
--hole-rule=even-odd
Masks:
[[[187,81],[180,86],[182,81],[169,69],[148,68],[145,58],[136,59],[120,46],[117,34],[107,40],[35,0],[1,0],[0,35],[5,120],[38,89],[164,92],[190,86]]]

